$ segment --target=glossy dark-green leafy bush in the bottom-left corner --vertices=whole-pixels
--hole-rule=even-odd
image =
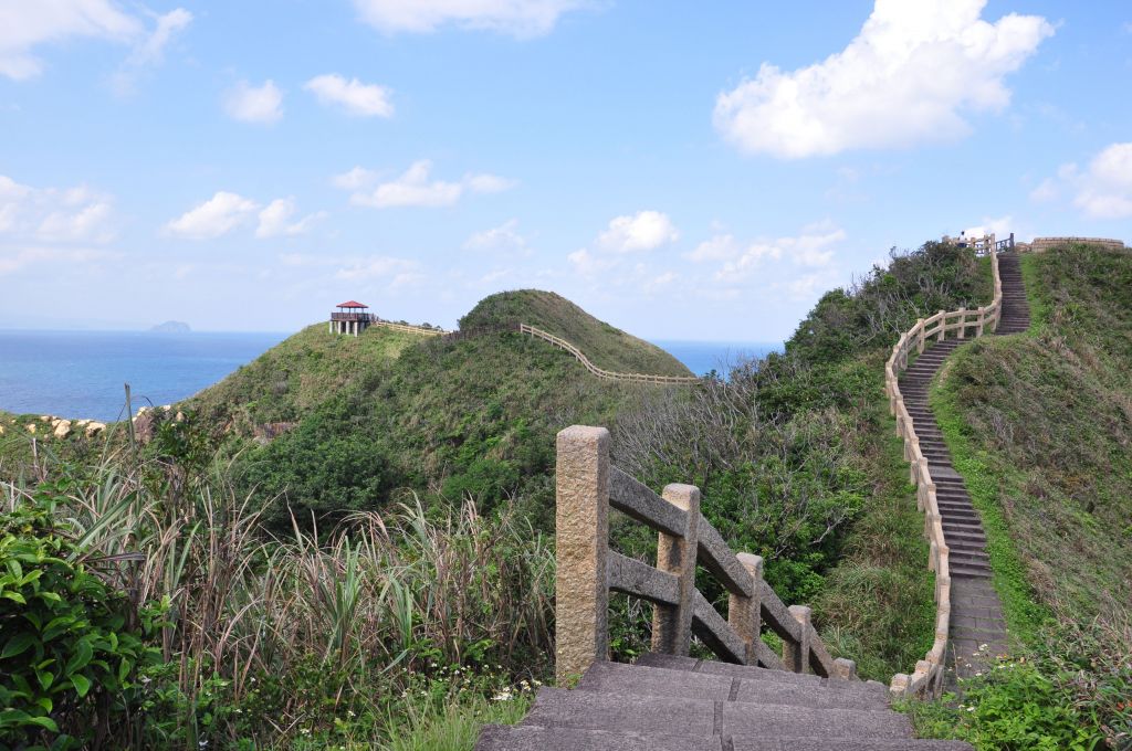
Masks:
[[[97,744],[158,658],[121,592],[54,516],[60,487],[0,515],[0,745]],[[118,731],[115,731],[117,733]]]

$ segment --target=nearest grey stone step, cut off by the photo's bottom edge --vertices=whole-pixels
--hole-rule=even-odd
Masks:
[[[799,728],[805,732],[805,728]],[[832,745],[829,737],[737,735],[730,739],[731,751],[970,751],[962,741],[920,740],[850,740]],[[576,727],[539,727],[537,725],[487,725],[475,751],[722,751],[719,735],[638,735],[589,731]]]

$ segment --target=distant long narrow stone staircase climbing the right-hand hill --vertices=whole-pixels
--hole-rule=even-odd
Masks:
[[[995,333],[1009,335],[1024,331],[1030,326],[1030,314],[1018,254],[998,256],[998,274],[1002,279],[1002,318]],[[943,433],[927,402],[932,379],[960,344],[959,339],[945,339],[926,349],[900,378],[900,392],[935,482],[943,534],[950,551],[951,639],[947,663],[955,668],[957,675],[966,677],[986,670],[995,655],[1005,653],[1009,635],[1002,603],[990,584],[990,560],[983,524],[971,506],[963,478],[951,465]]]

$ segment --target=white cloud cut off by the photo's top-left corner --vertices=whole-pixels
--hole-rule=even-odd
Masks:
[[[43,63],[32,50],[41,44],[84,36],[129,42],[142,31],[111,0],[8,0],[0,3],[0,75],[37,76]]]

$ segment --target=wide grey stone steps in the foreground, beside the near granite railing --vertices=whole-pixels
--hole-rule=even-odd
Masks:
[[[912,737],[881,683],[649,654],[594,663],[573,690],[539,690],[520,725],[477,751],[959,751]]]

